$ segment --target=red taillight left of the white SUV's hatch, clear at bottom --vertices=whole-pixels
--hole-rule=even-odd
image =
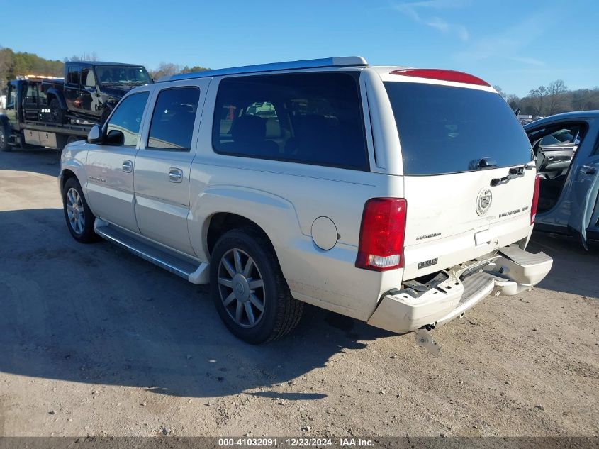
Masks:
[[[372,198],[364,204],[356,267],[384,271],[403,267],[403,198]]]

